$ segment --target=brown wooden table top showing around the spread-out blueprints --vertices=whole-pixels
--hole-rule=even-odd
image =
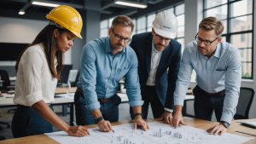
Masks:
[[[147,123],[148,122],[154,122],[154,121],[164,123],[163,121],[159,121],[158,118],[156,118],[156,119],[146,119],[145,121]],[[211,128],[212,126],[218,124],[217,122],[211,122],[211,121],[206,121],[206,120],[201,120],[201,119],[196,119],[196,118],[188,118],[188,117],[183,117],[183,121],[184,121],[184,123],[188,124],[189,126],[192,126],[192,127],[195,127],[195,128],[201,129],[201,130],[207,130],[207,129]],[[236,122],[255,122],[255,121],[256,121],[256,118],[232,121],[231,124],[230,124],[230,128],[228,129],[227,132],[230,133],[230,134],[235,134],[235,135],[242,135],[242,136],[246,136],[246,137],[254,137],[253,140],[247,141],[246,144],[255,144],[256,143],[256,136],[245,135],[245,134],[241,134],[241,133],[236,132],[236,130],[239,130],[241,132],[256,135],[256,130],[255,129],[248,128],[246,126],[242,126],[239,123],[236,123]],[[125,120],[125,121],[115,122],[115,123],[111,123],[111,124],[114,126],[114,125],[131,124],[131,123],[133,123],[133,120]],[[87,125],[87,126],[84,126],[84,127],[87,128],[87,129],[96,128],[97,124]],[[0,141],[0,143],[1,144],[26,144],[26,143],[56,144],[58,142],[49,138],[47,135],[42,134],[42,135],[32,135],[32,136],[26,136],[26,137],[11,139],[11,140]]]

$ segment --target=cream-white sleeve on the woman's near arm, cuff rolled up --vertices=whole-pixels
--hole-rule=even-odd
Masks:
[[[35,50],[28,50],[22,55],[20,63],[24,72],[24,82],[26,101],[30,107],[38,101],[43,100],[43,91],[41,86],[41,74],[43,68],[43,59]]]

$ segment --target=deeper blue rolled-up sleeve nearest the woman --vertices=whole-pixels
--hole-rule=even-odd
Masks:
[[[92,111],[101,107],[96,95],[96,51],[86,44],[81,58],[81,82],[85,107]]]

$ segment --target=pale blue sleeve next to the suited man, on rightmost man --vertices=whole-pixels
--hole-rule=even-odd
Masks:
[[[190,84],[193,66],[191,64],[189,49],[187,47],[183,51],[183,58],[181,60],[180,69],[177,74],[176,89],[174,92],[174,106],[183,106],[183,101]]]

